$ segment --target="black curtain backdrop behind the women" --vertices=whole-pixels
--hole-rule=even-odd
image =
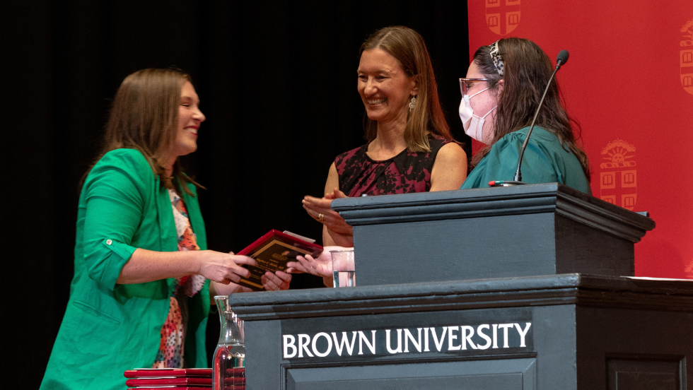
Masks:
[[[168,66],[192,75],[207,121],[183,162],[208,189],[199,198],[210,249],[238,251],[272,228],[320,240],[301,199],[320,196],[334,156],[364,142],[355,76],[368,34],[387,25],[421,32],[453,135],[468,141],[457,115],[466,3],[6,2],[2,387],[36,389],[42,378],[69,297],[78,182],[125,76]],[[292,288],[320,283],[304,276]],[[210,348],[217,323],[214,314]]]

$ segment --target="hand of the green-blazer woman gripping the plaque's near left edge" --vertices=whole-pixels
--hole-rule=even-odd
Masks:
[[[252,257],[239,256],[233,252],[199,251],[197,273],[217,283],[238,283],[240,278],[248,278],[250,271],[243,265],[257,266]]]

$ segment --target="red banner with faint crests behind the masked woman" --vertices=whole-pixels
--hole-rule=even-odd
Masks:
[[[657,223],[635,246],[636,276],[693,278],[693,1],[468,5],[470,57],[502,37],[530,39],[554,61],[570,52],[557,78],[594,196]]]

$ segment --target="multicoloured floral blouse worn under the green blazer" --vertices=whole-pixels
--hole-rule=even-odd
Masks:
[[[173,189],[168,190],[168,196],[173,208],[178,250],[199,250],[197,237],[192,232],[192,225],[190,225],[183,199]],[[205,278],[202,275],[182,276],[175,279],[173,295],[169,297],[168,317],[161,327],[161,344],[153,368],[185,367],[183,346],[185,345],[185,324],[187,323],[187,297],[199,293],[204,282]]]

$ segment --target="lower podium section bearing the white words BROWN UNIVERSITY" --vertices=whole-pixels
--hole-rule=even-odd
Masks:
[[[688,282],[567,274],[231,305],[246,321],[249,390],[688,389],[693,362]]]

